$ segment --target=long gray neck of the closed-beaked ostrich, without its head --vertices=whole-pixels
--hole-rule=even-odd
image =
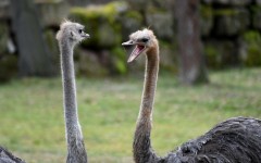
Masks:
[[[77,115],[73,48],[74,45],[69,40],[61,40],[60,50],[67,140],[67,163],[87,163],[87,153]]]

